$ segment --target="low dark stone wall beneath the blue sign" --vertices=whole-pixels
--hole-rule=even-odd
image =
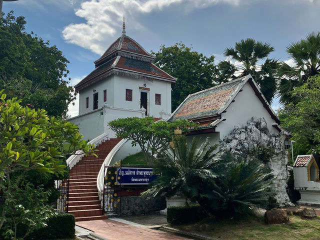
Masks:
[[[140,197],[140,196],[122,196],[121,197],[121,215],[146,214],[152,211],[159,211],[166,206],[165,197]]]

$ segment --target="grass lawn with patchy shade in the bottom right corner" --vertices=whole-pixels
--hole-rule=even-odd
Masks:
[[[196,232],[223,240],[320,240],[320,217],[313,219],[289,216],[290,222],[267,225],[263,218],[245,216],[242,219],[212,220],[188,225],[174,225],[174,228]]]

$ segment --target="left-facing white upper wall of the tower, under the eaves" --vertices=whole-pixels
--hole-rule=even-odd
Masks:
[[[79,115],[93,110],[93,94],[98,92],[98,108],[104,104],[114,105],[114,76],[108,76],[95,84],[79,91]],[[96,91],[93,92],[93,89]],[[103,90],[106,89],[106,102],[103,101]],[[85,108],[85,98],[89,97],[89,107]]]

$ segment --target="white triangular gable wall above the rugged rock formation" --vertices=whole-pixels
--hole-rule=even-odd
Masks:
[[[248,82],[244,84],[242,91],[235,96],[234,100],[226,108],[226,112],[221,114],[221,119],[225,118],[226,120],[216,126],[215,130],[220,132],[221,139],[228,135],[234,126],[246,125],[247,120],[252,116],[264,117],[270,133],[278,133],[278,130],[272,126],[275,120],[263,107],[262,102],[255,95]]]

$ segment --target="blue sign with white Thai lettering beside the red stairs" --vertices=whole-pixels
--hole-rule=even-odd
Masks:
[[[156,178],[156,175],[153,175],[153,169],[147,167],[117,167],[116,172],[117,184],[149,184]]]

